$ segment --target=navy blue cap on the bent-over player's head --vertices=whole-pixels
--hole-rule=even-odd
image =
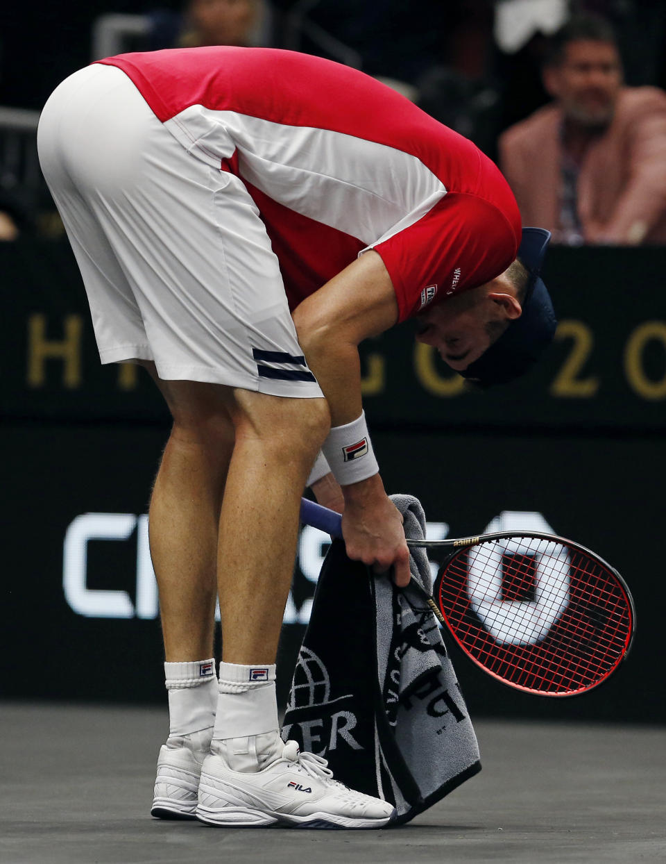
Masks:
[[[523,313],[479,359],[460,372],[463,378],[481,387],[504,384],[528,372],[550,345],[557,320],[548,289],[539,276],[549,243],[550,231],[545,228],[523,228],[518,258],[530,271]]]

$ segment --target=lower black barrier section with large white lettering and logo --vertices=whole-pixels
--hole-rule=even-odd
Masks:
[[[12,490],[3,496],[1,615],[10,657],[3,696],[164,701],[145,513],[166,435],[106,425],[0,430],[3,486]],[[535,527],[537,520],[606,557],[635,594],[631,658],[587,696],[526,696],[452,651],[473,716],[666,721],[657,673],[666,602],[661,442],[379,433],[375,448],[387,488],[418,495],[440,536],[447,524],[451,536],[484,530],[503,512],[505,526],[513,519]],[[313,532],[299,550],[287,608],[292,622],[307,619],[326,544]],[[343,621],[340,627],[343,634]],[[282,699],[302,633],[302,624],[284,628]]]

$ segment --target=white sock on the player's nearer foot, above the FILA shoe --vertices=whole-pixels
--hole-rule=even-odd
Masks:
[[[275,664],[220,664],[213,745],[234,771],[259,771],[282,753]]]

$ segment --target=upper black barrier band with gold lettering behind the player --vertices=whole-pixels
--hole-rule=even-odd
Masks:
[[[409,322],[368,340],[361,348],[368,418],[421,429],[663,429],[665,264],[664,248],[553,248],[544,276],[560,321],[555,344],[529,376],[496,391],[466,387],[429,346],[415,345]],[[65,242],[0,245],[0,273],[4,416],[164,418],[135,365],[99,365]]]

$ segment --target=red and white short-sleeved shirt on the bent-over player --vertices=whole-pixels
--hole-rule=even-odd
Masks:
[[[274,48],[101,62],[129,76],[193,155],[241,178],[290,308],[369,248],[391,276],[399,321],[516,257],[520,214],[499,169],[368,75]]]

